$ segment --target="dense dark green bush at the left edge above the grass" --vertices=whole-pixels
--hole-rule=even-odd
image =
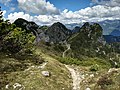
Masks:
[[[1,13],[2,14],[2,13]],[[2,17],[1,17],[2,18]],[[0,47],[5,53],[32,53],[35,36],[9,21],[0,22]]]

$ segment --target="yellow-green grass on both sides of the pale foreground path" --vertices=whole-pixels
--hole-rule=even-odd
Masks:
[[[8,74],[0,74],[0,84],[9,85],[9,90],[13,90],[13,85],[19,83],[25,87],[23,90],[72,90],[72,79],[70,72],[61,64],[58,60],[49,56],[47,53],[42,53],[40,49],[36,50],[36,54],[42,56],[47,61],[45,68],[40,69],[40,65],[35,65],[28,61],[19,62],[14,58],[8,58],[4,55],[0,57],[0,66],[7,66]],[[90,59],[90,58],[86,58]],[[69,64],[69,63],[68,63]],[[102,66],[98,71],[90,71],[91,65],[98,64]],[[90,88],[91,90],[119,90],[120,89],[120,69],[117,72],[108,73],[109,65],[105,65],[106,62],[102,60],[91,58],[91,60],[85,60],[78,63],[78,66],[71,65],[72,68],[80,72],[81,77],[84,76],[80,83],[81,90]],[[22,65],[22,67],[21,67]],[[9,68],[15,68],[16,72]],[[2,70],[2,69],[1,69]],[[3,69],[4,70],[4,69]],[[50,77],[44,77],[41,71],[49,71]],[[108,75],[107,79],[106,76]],[[105,77],[105,78],[104,78]],[[102,78],[100,83],[109,82],[109,85],[98,85],[99,79]],[[109,80],[112,80],[109,81]],[[5,86],[4,86],[5,87]],[[21,88],[20,87],[20,88]],[[5,88],[2,88],[5,90]],[[16,88],[15,90],[18,90]]]

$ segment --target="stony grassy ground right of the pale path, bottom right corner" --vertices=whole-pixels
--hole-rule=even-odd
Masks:
[[[117,71],[113,69],[112,72],[107,70],[90,72],[87,68],[82,70],[84,79],[80,83],[81,90],[86,88],[91,90],[120,90],[120,69]]]

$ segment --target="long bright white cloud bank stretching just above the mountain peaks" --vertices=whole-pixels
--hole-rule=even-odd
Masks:
[[[25,1],[25,0],[24,0]],[[36,15],[30,16],[23,12],[15,12],[8,15],[8,19],[13,22],[17,18],[24,18],[29,21],[34,21],[37,24],[49,25],[54,22],[61,22],[63,24],[81,23],[81,22],[99,22],[104,20],[120,19],[120,7],[110,7],[104,5],[97,5],[94,7],[87,7],[75,12],[65,9],[59,15]]]

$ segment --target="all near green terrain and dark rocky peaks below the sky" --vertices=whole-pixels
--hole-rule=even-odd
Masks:
[[[115,69],[120,67],[120,45],[104,44],[99,24],[85,23],[71,35],[59,22],[39,27],[18,19],[17,26],[4,21],[0,12],[0,90],[71,90],[72,73],[81,79],[81,90],[88,86],[91,90],[120,89],[120,70]],[[44,39],[35,45],[41,33]],[[45,42],[46,37],[50,41]],[[65,67],[69,65],[72,71]],[[110,68],[114,70],[108,72]]]

